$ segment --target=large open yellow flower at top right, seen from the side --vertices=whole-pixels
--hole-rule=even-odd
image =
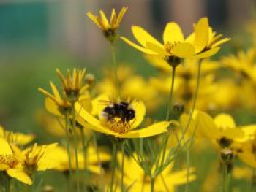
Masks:
[[[201,18],[195,25],[195,33],[187,39],[177,23],[170,22],[165,26],[163,43],[154,39],[139,26],[132,26],[132,34],[140,45],[131,42],[126,37],[121,37],[128,45],[148,55],[158,55],[164,58],[168,64],[176,66],[181,63],[181,58],[208,58],[219,50],[213,38],[209,39],[208,18]],[[212,37],[212,34],[211,34]],[[215,47],[212,45],[214,44]],[[206,50],[206,46],[211,49]]]

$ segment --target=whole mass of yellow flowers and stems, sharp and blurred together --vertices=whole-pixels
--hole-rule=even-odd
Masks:
[[[39,112],[37,118],[61,142],[30,145],[34,135],[0,127],[0,170],[6,191],[15,188],[12,178],[34,191],[34,175],[48,169],[68,175],[67,191],[175,191],[178,185],[191,191],[189,183],[197,175],[189,154],[208,145],[215,147],[217,166],[223,169],[223,180],[217,183],[222,191],[230,191],[230,174],[236,177],[238,171],[235,161],[256,169],[256,124],[236,126],[227,113],[209,115],[256,107],[255,49],[211,61],[230,38],[213,31],[208,18],[198,20],[186,38],[177,23],[167,23],[162,42],[132,26],[136,44],[118,34],[126,12],[127,7],[118,14],[113,9],[110,20],[103,11],[99,16],[87,13],[111,47],[113,68],[101,81],[86,69],[67,69],[66,76],[56,69],[61,86],[50,81],[52,93],[38,89],[48,113]],[[142,52],[159,75],[146,79],[130,66],[118,65],[118,39]],[[220,68],[235,72],[238,82],[217,79]],[[146,112],[165,117],[145,118]],[[214,183],[206,184],[202,191],[214,191]]]

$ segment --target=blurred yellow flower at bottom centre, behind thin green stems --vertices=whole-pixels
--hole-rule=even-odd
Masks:
[[[121,163],[122,155],[118,154]],[[173,172],[174,162],[155,178],[154,191],[174,191],[175,187],[187,183],[187,169]],[[189,182],[195,180],[195,168],[189,168]],[[150,191],[151,179],[133,158],[124,157],[124,183],[129,191]],[[166,189],[167,188],[167,189]]]

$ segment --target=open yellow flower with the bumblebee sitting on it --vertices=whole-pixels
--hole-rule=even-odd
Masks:
[[[75,104],[75,110],[85,120],[83,122],[84,126],[117,138],[151,137],[167,131],[166,128],[170,124],[168,121],[162,121],[146,128],[135,130],[143,121],[146,113],[145,105],[142,101],[112,102],[108,96],[105,96],[105,99],[99,101],[97,106],[99,118],[94,118],[78,103]]]

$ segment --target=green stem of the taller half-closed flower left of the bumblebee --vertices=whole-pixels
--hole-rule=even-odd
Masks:
[[[79,185],[79,168],[78,168],[78,133],[75,128],[75,102],[72,102],[72,131],[74,131],[74,142],[75,142],[75,175],[76,175],[76,187],[77,192],[80,192]]]

